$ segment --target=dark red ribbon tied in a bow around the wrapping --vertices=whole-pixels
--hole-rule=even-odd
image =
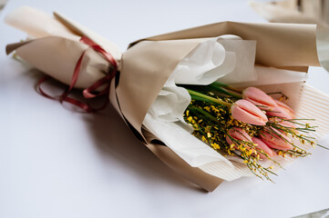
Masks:
[[[86,99],[95,98],[95,97],[105,94],[106,102],[100,108],[93,108],[87,103],[82,103],[76,99],[73,99],[73,98],[67,96],[71,92],[71,90],[73,89],[75,84],[77,83],[77,78],[80,73],[82,59],[83,59],[84,55],[86,54],[87,49],[80,55],[79,59],[77,60],[76,67],[75,67],[73,75],[72,75],[71,83],[69,84],[67,90],[63,94],[60,94],[58,96],[51,96],[49,94],[46,94],[42,90],[41,84],[43,84],[44,82],[46,82],[47,80],[49,80],[51,78],[47,75],[39,80],[39,82],[36,84],[36,89],[38,90],[38,92],[40,94],[44,95],[45,97],[57,100],[60,103],[67,102],[69,104],[74,104],[77,107],[86,111],[87,113],[96,112],[98,110],[105,108],[108,105],[109,84],[110,84],[111,80],[113,79],[113,77],[118,72],[118,64],[111,54],[107,53],[101,46],[97,45],[91,39],[87,38],[87,36],[82,36],[80,39],[80,42],[82,42],[86,45],[89,45],[89,47],[94,49],[96,52],[98,52],[99,54],[102,54],[104,56],[104,58],[108,61],[108,63],[112,65],[110,72],[108,72],[108,74],[106,76],[99,79],[94,84],[91,84],[89,87],[87,87],[87,89],[83,90],[83,92],[82,92]],[[96,94],[95,91],[104,84],[106,84],[105,88]]]

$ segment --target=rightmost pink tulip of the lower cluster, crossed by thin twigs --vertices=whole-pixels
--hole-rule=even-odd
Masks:
[[[269,133],[262,131],[260,134],[262,142],[267,144],[267,146],[283,151],[293,149],[293,145],[290,144],[292,141],[288,136],[273,128],[268,129],[268,131]]]

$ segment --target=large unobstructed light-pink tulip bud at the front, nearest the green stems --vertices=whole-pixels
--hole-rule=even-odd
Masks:
[[[231,105],[231,115],[247,124],[265,125],[268,121],[267,116],[258,107],[243,99]]]

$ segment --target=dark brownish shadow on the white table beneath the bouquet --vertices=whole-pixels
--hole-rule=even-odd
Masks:
[[[116,159],[129,172],[157,183],[171,183],[204,192],[162,163],[134,136],[117,111],[109,105],[98,114],[85,116],[90,134],[104,158]]]

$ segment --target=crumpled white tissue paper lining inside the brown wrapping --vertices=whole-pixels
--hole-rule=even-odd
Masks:
[[[176,84],[211,84],[223,77],[231,82],[255,80],[255,55],[251,55],[255,49],[255,41],[235,35],[205,39],[176,66],[150,106],[143,122],[145,127],[193,167],[221,162],[234,168],[225,157],[191,134],[192,127],[183,120],[190,94]]]

